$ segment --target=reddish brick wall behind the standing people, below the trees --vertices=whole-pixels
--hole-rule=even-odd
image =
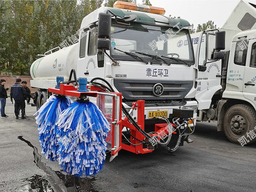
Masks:
[[[36,88],[30,87],[30,80],[32,80],[31,76],[0,76],[0,79],[6,80],[6,84],[4,85],[5,88],[11,88],[11,85],[15,84],[17,78],[20,78],[21,81],[27,81],[27,86],[30,89],[31,93],[34,93],[36,91]],[[10,89],[7,91],[7,94],[10,94]]]

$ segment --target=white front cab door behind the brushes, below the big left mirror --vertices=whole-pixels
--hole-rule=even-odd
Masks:
[[[94,77],[105,78],[104,54],[97,54],[98,27],[88,30],[88,46],[85,60],[85,77],[90,81]],[[101,82],[100,82],[101,83]]]

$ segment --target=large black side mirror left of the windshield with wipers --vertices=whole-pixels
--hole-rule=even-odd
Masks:
[[[111,14],[99,13],[97,49],[110,49]]]

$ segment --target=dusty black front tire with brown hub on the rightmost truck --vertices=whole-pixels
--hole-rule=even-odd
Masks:
[[[225,113],[223,129],[228,140],[232,143],[240,144],[238,140],[242,136],[247,140],[245,144],[255,142],[256,137],[252,138],[249,134],[250,131],[255,133],[255,125],[256,112],[252,106],[246,104],[233,105]]]

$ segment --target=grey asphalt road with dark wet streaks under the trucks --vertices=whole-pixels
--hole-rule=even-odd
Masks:
[[[93,192],[208,192],[255,191],[256,143],[230,143],[216,123],[197,123],[193,143],[174,153],[165,149],[136,155],[120,151],[94,178],[76,178],[61,171],[56,162],[41,156],[35,107],[26,106],[27,119],[14,118],[7,100],[0,118],[0,191]]]

